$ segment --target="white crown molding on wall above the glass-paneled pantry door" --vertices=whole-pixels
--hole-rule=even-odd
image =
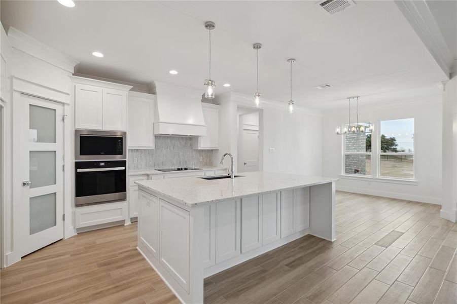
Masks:
[[[45,45],[29,35],[15,29],[8,28],[8,39],[14,49],[27,53],[67,72],[73,73],[79,61]]]

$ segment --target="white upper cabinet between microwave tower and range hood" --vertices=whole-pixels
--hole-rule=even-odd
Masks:
[[[154,149],[156,95],[128,93],[128,148]]]

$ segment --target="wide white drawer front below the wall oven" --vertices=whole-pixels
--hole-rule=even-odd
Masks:
[[[76,228],[126,220],[127,209],[126,201],[77,207]]]

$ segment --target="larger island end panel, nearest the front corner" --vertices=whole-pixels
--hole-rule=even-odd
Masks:
[[[159,261],[181,287],[189,292],[189,212],[166,201],[159,203]]]

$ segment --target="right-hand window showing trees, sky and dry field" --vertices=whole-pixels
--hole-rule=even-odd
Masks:
[[[414,119],[381,121],[379,177],[414,178]]]

